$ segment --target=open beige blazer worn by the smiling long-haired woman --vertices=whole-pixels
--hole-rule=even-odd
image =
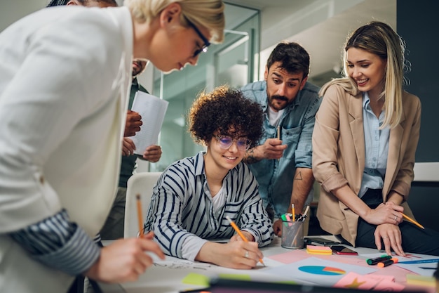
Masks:
[[[346,92],[342,86],[330,86],[316,115],[313,131],[313,174],[321,184],[317,217],[320,226],[334,235],[341,234],[355,245],[358,215],[339,202],[331,190],[349,185],[360,190],[365,166],[362,93]],[[414,178],[414,153],[421,125],[421,102],[417,96],[403,93],[403,116],[390,131],[389,156],[384,178],[383,200],[391,190],[404,199]],[[413,216],[407,203],[405,214]]]

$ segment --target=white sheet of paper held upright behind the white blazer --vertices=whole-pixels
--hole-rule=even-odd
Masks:
[[[143,155],[144,150],[149,145],[156,145],[158,134],[160,133],[168,101],[152,96],[143,91],[137,91],[131,110],[138,112],[142,116],[142,126],[135,136],[130,138],[135,144],[135,154]]]

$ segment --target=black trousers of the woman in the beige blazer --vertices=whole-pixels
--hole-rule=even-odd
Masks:
[[[367,190],[361,198],[365,204],[371,209],[378,207],[383,202],[382,190]],[[375,245],[374,232],[376,225],[367,223],[363,219],[358,219],[356,246],[377,248]],[[439,232],[425,228],[421,229],[414,224],[403,221],[399,224],[401,235],[403,238],[404,252],[412,252],[418,254],[431,254],[439,256]],[[384,243],[381,240],[381,247]]]

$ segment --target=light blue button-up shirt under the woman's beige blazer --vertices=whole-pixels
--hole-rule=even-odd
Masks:
[[[389,152],[390,128],[379,129],[384,121],[384,110],[379,117],[370,108],[370,98],[363,94],[363,128],[365,135],[365,169],[361,181],[359,197],[363,197],[367,189],[382,189],[386,174],[387,154]]]

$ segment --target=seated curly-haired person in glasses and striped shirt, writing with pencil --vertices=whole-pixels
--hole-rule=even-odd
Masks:
[[[207,150],[163,172],[144,229],[153,230],[154,240],[171,256],[253,268],[263,257],[258,247],[269,245],[274,235],[256,178],[242,162],[262,136],[262,111],[241,91],[221,86],[194,102],[189,131]],[[235,234],[227,216],[248,242]],[[224,238],[230,241],[215,242]]]

